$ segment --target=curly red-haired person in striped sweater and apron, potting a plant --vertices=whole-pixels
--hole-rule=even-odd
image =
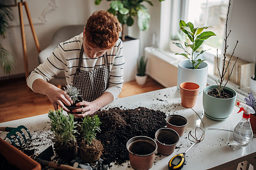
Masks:
[[[76,117],[91,115],[118,97],[123,85],[124,57],[122,30],[118,19],[108,11],[95,11],[87,20],[81,34],[60,43],[58,48],[36,67],[28,77],[28,86],[46,95],[54,109],[65,111],[73,104],[67,92],[48,83],[65,71],[67,83],[80,90],[83,101],[72,113]],[[76,113],[82,114],[76,114]]]

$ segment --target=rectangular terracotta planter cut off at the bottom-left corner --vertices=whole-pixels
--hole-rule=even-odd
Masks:
[[[5,157],[9,164],[17,167],[18,169],[41,169],[41,165],[38,162],[31,159],[31,157],[10,145],[10,143],[7,143],[2,138],[0,138],[0,153]],[[4,169],[3,164],[1,165],[1,169],[2,168]]]

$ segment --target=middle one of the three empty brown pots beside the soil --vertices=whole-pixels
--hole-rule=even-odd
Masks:
[[[157,152],[163,155],[171,155],[179,141],[179,134],[170,128],[161,128],[155,134]]]

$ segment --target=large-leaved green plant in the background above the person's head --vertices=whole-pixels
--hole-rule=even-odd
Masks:
[[[99,5],[102,0],[95,0],[95,4]],[[134,17],[138,17],[138,26],[140,31],[146,31],[149,27],[148,21],[150,20],[150,14],[148,9],[142,3],[148,3],[153,6],[150,0],[107,0],[111,1],[109,13],[115,15],[120,24],[122,24],[122,40],[125,40],[124,25],[132,26],[134,24]],[[164,1],[164,0],[158,0]]]

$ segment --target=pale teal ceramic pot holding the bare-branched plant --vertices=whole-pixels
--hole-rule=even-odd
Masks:
[[[232,92],[234,96],[230,99],[220,99],[216,97],[209,96],[207,94],[208,90],[216,89],[217,85],[209,85],[204,88],[203,94],[203,106],[204,113],[207,117],[213,120],[225,120],[232,113],[234,106],[236,104],[236,91],[230,87],[224,87],[225,90]]]

